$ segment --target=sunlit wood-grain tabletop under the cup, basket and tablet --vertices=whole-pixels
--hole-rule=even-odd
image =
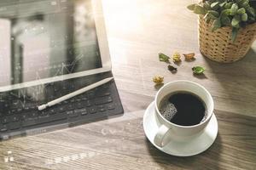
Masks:
[[[13,139],[0,144],[0,169],[256,169],[256,44],[245,59],[222,65],[198,49],[197,16],[189,0],[104,1],[113,74],[125,115]],[[158,53],[196,53],[194,62],[166,69]],[[202,65],[205,77],[191,67]],[[157,89],[151,81],[191,80],[213,96],[218,137],[198,156],[176,157],[154,148],[143,133],[143,113]]]

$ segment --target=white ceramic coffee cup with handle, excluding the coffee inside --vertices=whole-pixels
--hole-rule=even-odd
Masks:
[[[194,126],[180,126],[172,122],[169,122],[168,120],[166,120],[164,116],[160,114],[160,101],[166,95],[178,91],[185,91],[192,94],[196,94],[204,101],[207,107],[207,118],[203,122],[196,124]],[[160,128],[158,129],[158,132],[154,136],[154,144],[157,144],[160,147],[164,147],[169,142],[172,142],[172,140],[170,140],[165,142],[166,144],[163,144],[163,141],[166,138],[166,134],[169,133],[169,131],[172,131],[172,133],[175,134],[179,139],[187,139],[188,137],[195,136],[196,134],[201,133],[212,117],[214,104],[212,95],[207,91],[206,88],[204,88],[196,82],[182,80],[169,82],[165,86],[160,88],[154,99],[154,107],[156,111],[156,118],[160,122]]]

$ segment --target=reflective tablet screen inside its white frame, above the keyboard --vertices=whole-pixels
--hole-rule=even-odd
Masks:
[[[102,67],[90,0],[1,0],[0,87]]]

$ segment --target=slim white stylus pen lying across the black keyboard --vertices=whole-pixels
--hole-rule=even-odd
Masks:
[[[54,100],[48,102],[47,104],[39,105],[38,106],[38,110],[42,111],[42,110],[46,109],[47,107],[50,107],[52,105],[56,105],[58,103],[61,103],[62,101],[66,100],[66,99],[70,99],[70,98],[73,98],[74,96],[77,96],[79,94],[83,94],[84,92],[87,92],[87,91],[89,91],[92,88],[96,88],[96,87],[99,87],[99,86],[101,86],[101,85],[103,85],[103,84],[105,84],[107,82],[110,82],[112,79],[113,79],[113,77],[105,78],[105,79],[103,79],[103,80],[101,80],[99,82],[95,82],[93,84],[90,84],[89,86],[86,86],[86,87],[81,88],[81,89],[79,89],[77,91],[74,91],[71,94],[67,94],[67,95],[62,96],[61,98],[54,99]]]

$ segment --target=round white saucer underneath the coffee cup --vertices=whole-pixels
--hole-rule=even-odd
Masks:
[[[152,144],[154,144],[154,135],[157,133],[159,127],[160,122],[155,116],[154,102],[152,102],[150,105],[148,105],[148,108],[143,116],[144,132]],[[207,150],[213,144],[217,134],[218,122],[213,113],[207,127],[202,133],[196,135],[195,137],[181,141],[175,140],[175,136],[173,136],[173,134],[172,136],[166,134],[166,139],[170,139],[171,142],[166,144],[163,148],[160,148],[156,144],[154,144],[154,146],[172,156],[194,156]]]

